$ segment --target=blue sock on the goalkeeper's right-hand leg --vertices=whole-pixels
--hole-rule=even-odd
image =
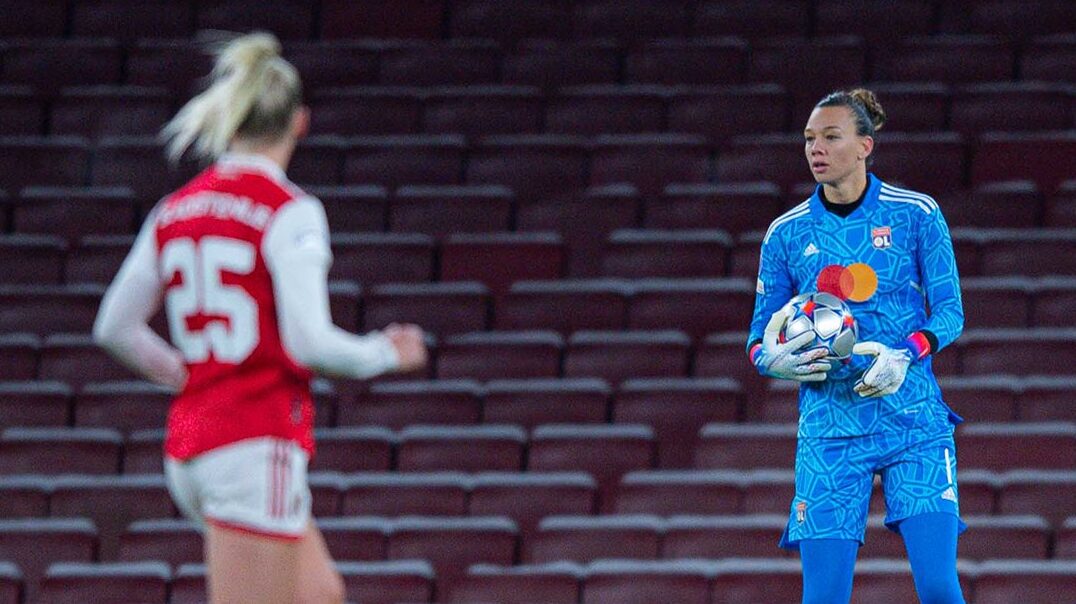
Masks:
[[[957,576],[958,521],[951,514],[936,511],[897,524],[922,604],[964,603]]]

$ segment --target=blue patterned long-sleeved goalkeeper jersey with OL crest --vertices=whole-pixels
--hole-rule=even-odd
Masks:
[[[859,341],[894,347],[925,329],[936,353],[964,326],[960,277],[949,227],[928,195],[886,184],[867,174],[863,202],[847,217],[825,210],[819,188],[775,220],[762,242],[762,257],[748,342],[761,340],[770,315],[789,298],[818,291],[830,265],[869,265],[878,289],[864,301],[847,300],[859,321]],[[750,347],[750,343],[748,345]],[[862,436],[921,429],[951,432],[962,421],[942,398],[931,356],[914,361],[901,389],[864,398],[852,388],[874,361],[852,355],[822,382],[799,388],[803,437]]]

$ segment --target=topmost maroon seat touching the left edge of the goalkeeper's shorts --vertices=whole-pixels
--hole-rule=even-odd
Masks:
[[[698,433],[695,467],[753,469],[791,467],[795,461],[794,424],[711,423]]]

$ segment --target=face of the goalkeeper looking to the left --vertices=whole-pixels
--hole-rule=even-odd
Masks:
[[[804,153],[817,182],[836,184],[858,170],[866,172],[870,137],[855,134],[855,120],[847,107],[820,107],[804,128]]]

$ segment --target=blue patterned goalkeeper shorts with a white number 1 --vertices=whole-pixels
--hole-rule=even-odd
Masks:
[[[796,493],[780,547],[802,539],[863,543],[874,475],[886,493],[886,525],[928,512],[960,519],[957,447],[952,433],[919,430],[843,438],[805,438],[796,444]],[[959,522],[960,532],[966,530]]]

